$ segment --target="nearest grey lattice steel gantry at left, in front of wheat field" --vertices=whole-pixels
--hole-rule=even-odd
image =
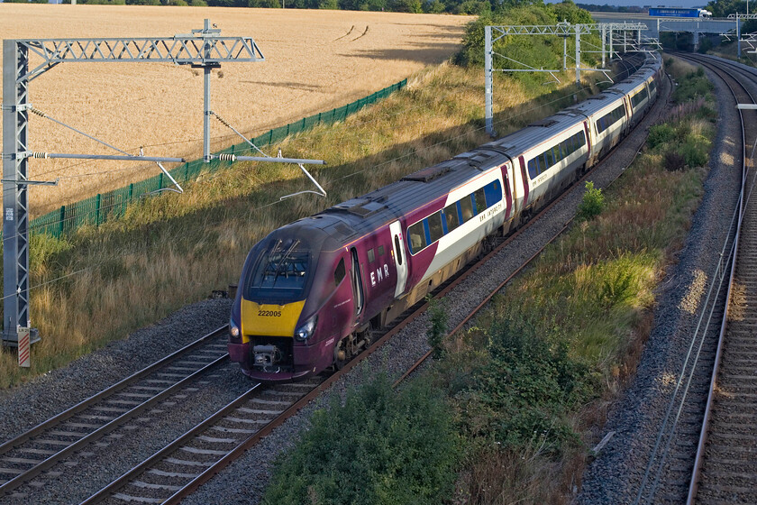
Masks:
[[[42,59],[29,70],[30,53]],[[264,61],[251,37],[222,37],[205,27],[173,37],[3,41],[3,344],[18,344],[29,326],[29,208],[27,159],[29,81],[59,63],[169,62],[205,69],[204,160],[210,161],[210,72],[223,62]]]

